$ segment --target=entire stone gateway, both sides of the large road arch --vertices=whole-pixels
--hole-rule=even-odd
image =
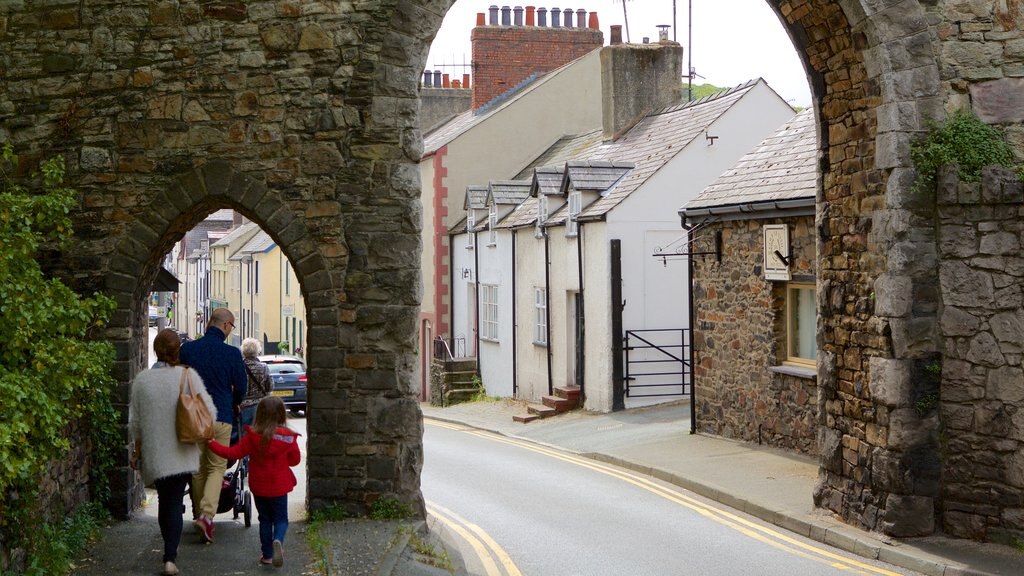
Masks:
[[[974,87],[1020,76],[1021,2],[767,1],[805,63],[820,130],[816,500],[867,528],[928,532],[940,495],[911,455],[934,438],[890,410],[909,402],[892,374],[940,347],[936,241],[910,194],[909,141],[926,119],[977,106]],[[451,4],[0,7],[0,138],[23,157],[67,157],[78,242],[53,272],[116,296],[106,336],[123,384],[139,368],[139,295],[202,212],[236,207],[296,263],[313,506],[358,511],[394,494],[423,510],[417,83]],[[1004,123],[1019,135],[1024,119]],[[132,487],[120,488],[127,508]]]

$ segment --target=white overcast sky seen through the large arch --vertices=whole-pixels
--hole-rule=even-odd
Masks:
[[[807,75],[778,16],[765,0],[692,0],[692,66],[703,77],[695,78],[694,84],[710,83],[731,87],[760,76],[791,105],[810,106]],[[588,12],[596,11],[605,44],[611,37],[609,27],[613,24],[625,25],[622,0],[560,0],[557,3],[458,0],[449,10],[430,46],[426,69],[451,72],[453,78],[461,78],[463,72],[469,72],[437,65],[468,65],[471,61],[469,35],[476,25],[476,13],[486,13],[492,4],[499,7],[531,5],[549,10],[557,7],[563,10],[584,8]],[[630,41],[639,43],[646,36],[656,42],[656,26],[672,25],[672,5],[673,0],[628,0],[626,14],[629,17]],[[679,26],[676,41],[683,45],[684,70],[690,64],[691,56],[687,45],[688,9],[687,0],[676,0],[676,20]],[[548,24],[550,23],[549,16]],[[669,38],[673,38],[671,28]],[[623,41],[626,41],[625,26]]]

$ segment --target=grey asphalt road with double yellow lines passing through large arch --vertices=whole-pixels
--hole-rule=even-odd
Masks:
[[[428,510],[470,574],[915,574],[543,446],[428,420],[424,450]]]

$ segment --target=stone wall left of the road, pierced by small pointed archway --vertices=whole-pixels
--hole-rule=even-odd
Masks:
[[[45,264],[115,298],[103,337],[122,409],[143,368],[145,296],[186,231],[233,208],[294,263],[308,306],[312,507],[361,513],[387,494],[423,512],[417,86],[449,4],[0,6],[0,140],[26,170],[67,161],[76,238]],[[138,488],[123,464],[119,516]]]

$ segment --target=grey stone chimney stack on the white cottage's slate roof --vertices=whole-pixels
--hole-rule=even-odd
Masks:
[[[603,137],[614,139],[652,111],[681,104],[683,47],[676,42],[601,49]]]

